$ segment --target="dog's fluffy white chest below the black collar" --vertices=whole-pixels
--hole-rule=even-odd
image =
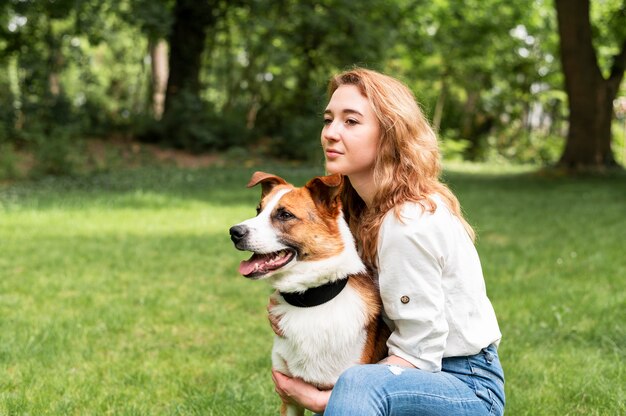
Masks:
[[[330,302],[298,308],[277,305],[284,337],[276,337],[274,367],[318,386],[332,386],[358,364],[366,339],[367,305],[346,287]]]

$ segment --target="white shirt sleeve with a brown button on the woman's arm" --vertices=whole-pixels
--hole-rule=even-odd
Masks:
[[[448,335],[442,285],[445,226],[435,217],[420,209],[399,220],[391,212],[378,242],[380,292],[393,322],[389,354],[431,372],[441,370]]]

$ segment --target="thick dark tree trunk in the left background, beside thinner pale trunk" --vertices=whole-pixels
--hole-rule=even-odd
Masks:
[[[200,69],[207,29],[215,23],[215,1],[177,0],[170,33],[169,79],[164,116],[182,91],[194,96],[200,89]]]

